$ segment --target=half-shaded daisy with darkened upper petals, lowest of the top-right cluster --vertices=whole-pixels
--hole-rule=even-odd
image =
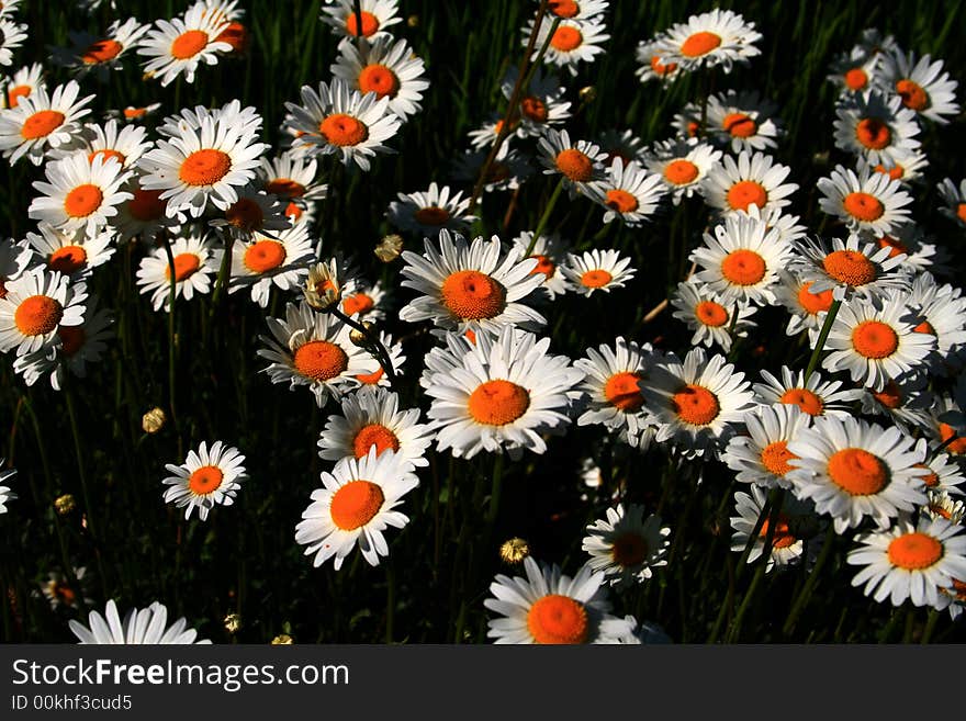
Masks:
[[[899,95],[855,93],[839,103],[835,114],[835,147],[872,165],[897,162],[919,147],[916,113],[902,108]]]

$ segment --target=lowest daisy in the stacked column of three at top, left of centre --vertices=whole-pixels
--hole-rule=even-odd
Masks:
[[[362,94],[335,78],[330,86],[319,82],[318,92],[303,86],[302,104],[287,102],[285,108],[292,113],[292,128],[303,133],[299,143],[306,150],[336,154],[342,165],[355,161],[369,170],[370,158],[392,151],[383,142],[402,125],[400,116],[389,112],[389,95]]]

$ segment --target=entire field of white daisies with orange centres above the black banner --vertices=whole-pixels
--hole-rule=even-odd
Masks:
[[[15,643],[966,640],[955,3],[0,1]]]

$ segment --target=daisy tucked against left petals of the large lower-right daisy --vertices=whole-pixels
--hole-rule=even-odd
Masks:
[[[749,435],[731,438],[721,461],[738,472],[735,477],[741,483],[790,488],[788,461],[795,455],[788,450],[788,441],[808,428],[810,421],[811,416],[795,404],[759,406],[744,417]]]

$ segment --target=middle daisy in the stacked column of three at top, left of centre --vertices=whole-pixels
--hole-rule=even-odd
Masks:
[[[429,87],[426,66],[404,40],[379,35],[372,42],[339,44],[339,57],[332,66],[334,78],[349,89],[389,98],[389,111],[403,120],[418,113],[423,92]]]

